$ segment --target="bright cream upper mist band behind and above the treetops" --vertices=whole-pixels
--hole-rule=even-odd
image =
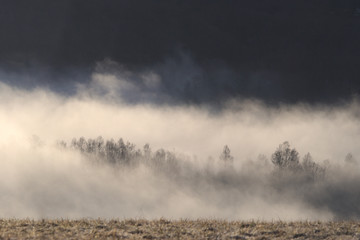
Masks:
[[[23,142],[32,135],[49,144],[80,136],[121,136],[138,146],[151,143],[156,149],[202,159],[216,156],[227,144],[235,157],[248,159],[268,156],[274,145],[289,141],[299,152],[311,152],[320,160],[360,154],[356,99],[338,106],[277,107],[233,99],[222,103],[221,111],[212,111],[198,105],[128,104],[122,92],[132,88],[108,75],[95,75],[90,84],[79,85],[74,96],[0,84],[1,142]]]

